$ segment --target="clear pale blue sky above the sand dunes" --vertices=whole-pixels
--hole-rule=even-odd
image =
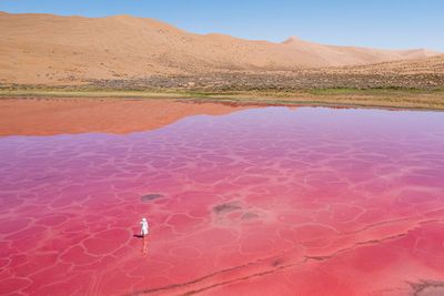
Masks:
[[[0,0],[0,10],[132,14],[195,33],[444,52],[443,0]]]

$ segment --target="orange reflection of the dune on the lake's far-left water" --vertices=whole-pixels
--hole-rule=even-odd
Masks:
[[[0,135],[125,134],[249,108],[165,99],[1,99]]]

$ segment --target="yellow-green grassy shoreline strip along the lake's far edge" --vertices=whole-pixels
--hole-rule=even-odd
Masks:
[[[8,99],[119,99],[179,100],[190,103],[221,103],[259,106],[325,106],[406,111],[444,111],[444,90],[416,89],[317,89],[290,91],[211,90],[92,90],[92,89],[0,89]]]

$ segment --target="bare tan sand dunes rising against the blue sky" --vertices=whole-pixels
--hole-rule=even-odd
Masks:
[[[0,82],[68,83],[219,70],[296,70],[434,55],[193,34],[152,19],[0,12]]]

